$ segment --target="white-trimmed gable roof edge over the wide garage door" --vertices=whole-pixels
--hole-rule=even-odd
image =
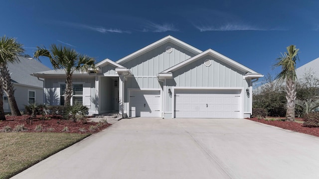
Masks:
[[[187,65],[187,64],[189,64],[189,63],[191,63],[193,61],[196,61],[196,60],[200,59],[201,57],[206,56],[206,55],[211,55],[211,56],[223,61],[224,63],[226,63],[226,64],[228,64],[228,65],[230,65],[232,67],[235,67],[235,68],[245,72],[246,74],[249,74],[250,77],[254,77],[254,75],[256,75],[256,77],[258,76],[258,78],[259,77],[263,77],[263,75],[251,70],[248,67],[245,67],[244,65],[241,65],[238,62],[235,62],[234,60],[232,60],[232,59],[230,59],[230,58],[228,58],[228,57],[226,57],[226,56],[224,56],[224,55],[222,55],[222,54],[220,54],[220,53],[218,53],[218,52],[216,52],[216,51],[214,51],[212,49],[208,49],[208,50],[206,50],[206,51],[204,51],[204,52],[202,52],[202,53],[200,53],[200,54],[198,54],[198,55],[196,55],[196,56],[194,56],[194,57],[192,57],[190,59],[187,59],[187,60],[185,60],[185,61],[183,61],[183,62],[181,62],[181,63],[179,63],[179,64],[177,64],[177,65],[175,65],[175,66],[173,66],[173,67],[171,67],[169,69],[167,69],[167,70],[164,70],[161,73],[173,72],[173,71],[175,71],[175,70],[177,70],[177,69],[179,69],[179,68],[181,68],[181,67],[183,67],[183,66],[185,66],[185,65]]]

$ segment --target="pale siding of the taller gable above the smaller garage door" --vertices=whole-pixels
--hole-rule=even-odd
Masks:
[[[167,47],[171,47],[170,53],[166,52]],[[128,89],[163,89],[163,83],[158,81],[157,74],[195,55],[174,43],[167,42],[128,62],[121,63],[134,76],[128,78],[125,84],[124,111],[128,110]]]

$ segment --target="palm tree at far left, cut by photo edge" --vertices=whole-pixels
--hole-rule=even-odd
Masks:
[[[11,115],[21,115],[14,97],[13,83],[7,69],[8,63],[19,62],[17,56],[24,52],[22,44],[18,43],[14,38],[1,37],[0,38],[0,77],[1,89],[4,90],[8,96],[8,102],[11,109]],[[1,105],[1,104],[0,104]],[[0,106],[3,108],[3,105]]]

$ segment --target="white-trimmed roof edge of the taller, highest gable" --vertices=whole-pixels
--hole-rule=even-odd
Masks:
[[[140,50],[138,50],[138,51],[136,51],[136,52],[134,52],[134,53],[132,53],[132,54],[120,59],[120,60],[118,60],[118,61],[116,61],[116,63],[121,64],[121,63],[125,63],[127,61],[130,61],[133,58],[135,58],[135,57],[137,57],[137,56],[139,56],[141,54],[144,54],[144,53],[146,53],[146,52],[148,52],[148,51],[150,51],[150,50],[152,50],[152,49],[154,49],[154,48],[156,48],[156,47],[158,47],[158,46],[160,46],[160,45],[162,45],[162,44],[164,44],[166,42],[174,43],[174,44],[176,44],[178,46],[181,46],[181,47],[187,49],[188,51],[190,51],[190,52],[192,52],[194,54],[202,53],[201,50],[199,50],[199,49],[197,49],[197,48],[195,48],[195,47],[193,47],[191,45],[186,44],[185,42],[182,42],[182,41],[180,41],[180,40],[168,35],[168,36],[166,36],[166,37],[164,37],[164,38],[152,43],[151,45],[148,45],[148,46],[146,46],[146,47],[144,47],[144,48],[142,48],[142,49],[140,49]]]

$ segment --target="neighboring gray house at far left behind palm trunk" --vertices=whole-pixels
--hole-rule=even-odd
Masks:
[[[32,58],[18,57],[19,63],[9,63],[7,65],[11,80],[14,86],[14,97],[19,110],[24,110],[24,105],[29,102],[43,103],[43,79],[31,76],[31,73],[50,70],[41,62]],[[10,112],[7,96],[3,96],[4,112]]]

